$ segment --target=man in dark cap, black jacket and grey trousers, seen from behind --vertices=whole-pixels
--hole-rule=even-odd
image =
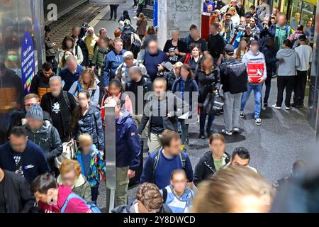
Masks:
[[[225,135],[239,133],[239,115],[242,92],[247,91],[247,67],[241,60],[235,59],[233,45],[225,47],[226,62],[220,66],[220,80],[225,97],[224,121]]]

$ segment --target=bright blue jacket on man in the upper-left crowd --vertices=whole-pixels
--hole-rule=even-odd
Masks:
[[[123,60],[123,54],[126,52],[126,50],[122,50],[119,54],[116,53],[116,50],[111,50],[108,52],[108,54],[105,56],[104,59],[104,68],[102,71],[102,77],[104,79],[104,86],[108,87],[108,84],[111,79],[114,79],[116,70],[118,69],[118,66],[121,65]]]

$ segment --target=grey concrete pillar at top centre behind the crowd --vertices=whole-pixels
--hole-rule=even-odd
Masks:
[[[174,30],[178,30],[180,37],[184,38],[189,33],[191,24],[195,24],[200,29],[202,8],[203,4],[200,0],[159,0],[159,46],[164,47]]]

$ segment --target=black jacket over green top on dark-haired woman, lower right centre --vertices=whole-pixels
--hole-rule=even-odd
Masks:
[[[224,155],[226,157],[225,162],[228,164],[228,162],[230,162],[230,155],[228,155],[228,153],[225,153]],[[206,151],[195,167],[194,184],[197,186],[200,182],[208,179],[208,177],[214,175],[216,172],[211,151]]]

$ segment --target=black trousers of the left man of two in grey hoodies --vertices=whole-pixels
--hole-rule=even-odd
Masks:
[[[286,90],[285,105],[291,107],[291,94],[295,87],[296,76],[279,76],[277,77],[277,106],[281,106],[284,99],[284,90]]]

